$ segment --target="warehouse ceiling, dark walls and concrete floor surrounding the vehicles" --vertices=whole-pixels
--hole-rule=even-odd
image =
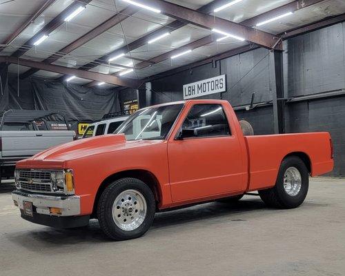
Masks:
[[[0,244],[9,256],[24,248],[32,264],[41,252],[66,263],[65,250],[71,250],[75,269],[86,275],[110,268],[133,275],[126,263],[133,257],[136,269],[147,275],[342,275],[344,0],[0,0],[1,113],[59,112],[78,132],[79,124],[110,113],[184,101],[188,83],[223,75],[224,91],[195,99],[228,101],[254,135],[330,133],[334,168],[311,180],[309,189],[315,190],[302,210],[269,209],[246,195],[232,208],[217,202],[159,213],[143,238],[112,244],[97,221],[77,230],[17,221],[14,186],[3,179]],[[290,237],[282,237],[289,224]],[[299,245],[293,245],[295,239]],[[117,248],[124,255],[116,257]],[[113,262],[102,259],[102,250]],[[94,253],[92,266],[83,262]],[[46,254],[41,257],[46,262],[39,275],[49,270],[47,264],[56,265]],[[4,275],[23,273],[24,266],[15,268],[10,257],[0,259]]]

